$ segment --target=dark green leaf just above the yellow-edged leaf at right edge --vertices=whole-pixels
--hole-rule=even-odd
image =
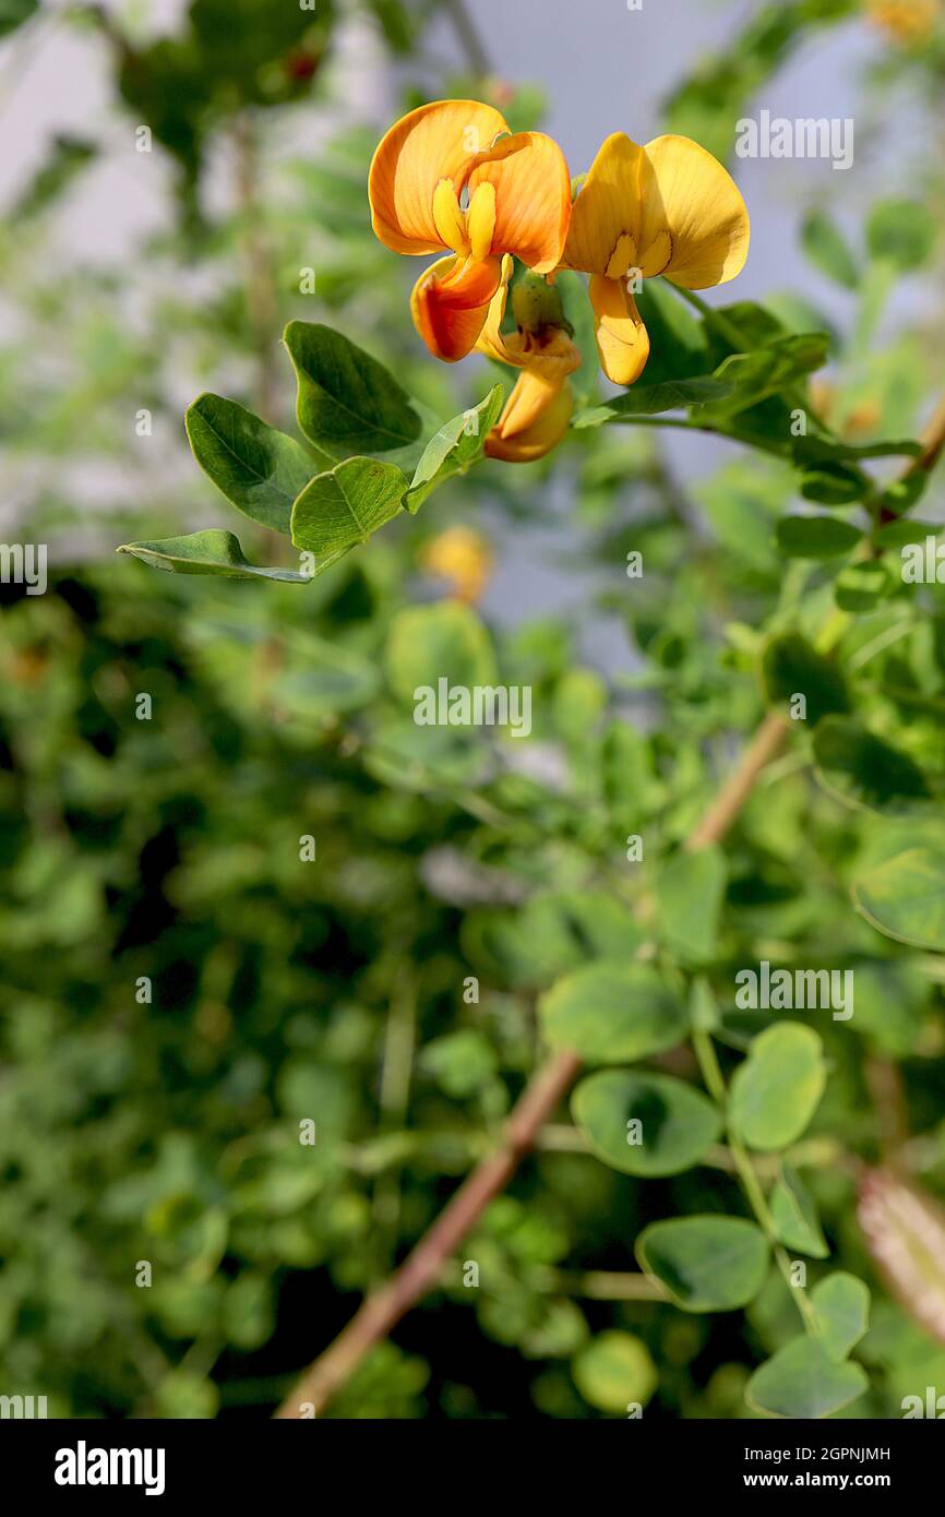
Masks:
[[[930,798],[925,775],[909,754],[849,718],[827,716],[813,751],[821,784],[848,806],[904,815]]]

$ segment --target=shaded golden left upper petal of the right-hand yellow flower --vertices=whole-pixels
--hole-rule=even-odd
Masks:
[[[637,267],[642,161],[643,149],[625,132],[602,144],[572,206],[567,269],[605,275],[614,255],[626,269]]]

